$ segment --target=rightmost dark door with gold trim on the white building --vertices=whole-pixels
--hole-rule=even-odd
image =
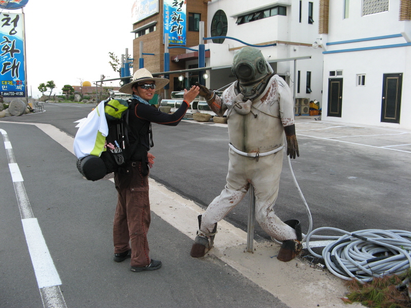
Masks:
[[[400,123],[402,73],[384,74],[381,122]]]

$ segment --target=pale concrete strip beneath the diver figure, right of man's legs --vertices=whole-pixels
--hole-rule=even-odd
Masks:
[[[201,207],[152,179],[150,201],[154,213],[194,240],[197,216],[204,211]],[[347,307],[341,300],[348,291],[344,280],[327,269],[302,259],[278,261],[279,245],[269,241],[254,241],[254,251],[248,253],[247,233],[226,221],[218,223],[217,231],[214,247],[204,258],[221,259],[290,307]]]

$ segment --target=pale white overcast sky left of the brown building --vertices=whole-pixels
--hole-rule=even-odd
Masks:
[[[23,8],[28,95],[40,97],[39,85],[50,80],[57,85],[53,93],[60,94],[66,84],[80,86],[79,78],[91,83],[101,74],[118,78],[108,52],[119,59],[126,48],[133,54],[131,8],[131,0],[29,0]]]

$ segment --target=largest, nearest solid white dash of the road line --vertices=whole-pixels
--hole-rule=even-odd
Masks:
[[[51,259],[37,218],[22,219],[22,223],[39,288],[60,285],[59,274]]]

